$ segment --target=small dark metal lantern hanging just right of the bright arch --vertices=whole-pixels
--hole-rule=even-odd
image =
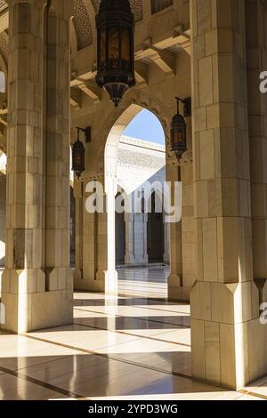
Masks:
[[[171,150],[175,153],[176,157],[180,159],[182,154],[187,150],[186,122],[179,112],[179,102],[182,101],[185,105],[185,100],[181,100],[178,97],[175,99],[177,100],[177,114],[173,117],[171,125]]]

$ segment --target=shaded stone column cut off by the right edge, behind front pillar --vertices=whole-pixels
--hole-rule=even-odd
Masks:
[[[253,17],[253,19],[252,19]],[[250,141],[252,246],[254,279],[259,301],[267,302],[267,101],[260,92],[260,74],[267,70],[267,5],[259,0],[246,1],[247,92]],[[251,380],[267,370],[267,327],[258,319],[248,324],[251,339]],[[263,348],[265,347],[265,350]]]

